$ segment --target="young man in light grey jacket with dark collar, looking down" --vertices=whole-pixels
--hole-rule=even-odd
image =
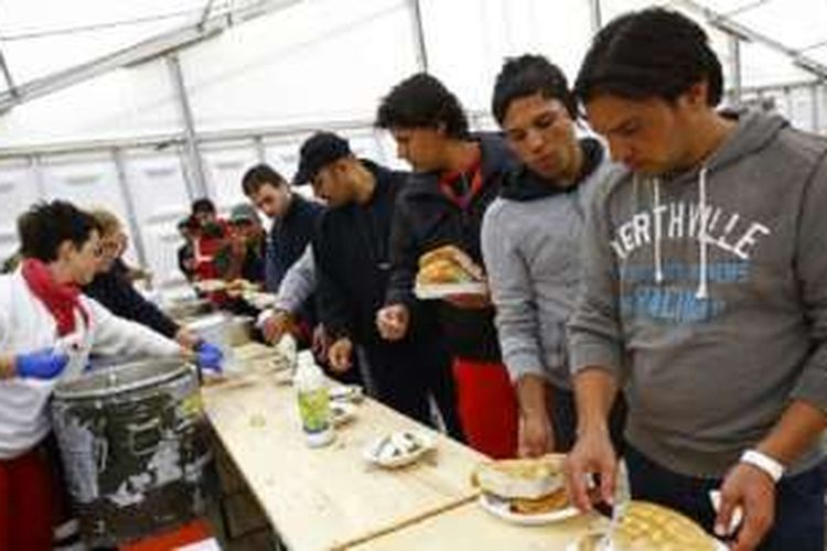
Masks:
[[[597,187],[620,168],[578,139],[566,76],[540,55],[503,65],[492,111],[520,161],[485,213],[482,250],[500,347],[519,402],[518,453],[574,443],[566,322],[580,283],[580,234]],[[614,418],[620,433],[620,408]]]

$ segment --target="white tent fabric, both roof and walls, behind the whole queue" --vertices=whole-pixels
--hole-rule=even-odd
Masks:
[[[256,1],[216,0],[212,10],[226,12]],[[301,0],[176,52],[204,184],[219,208],[244,199],[238,181],[253,163],[266,161],[291,175],[298,144],[315,129],[339,129],[352,138],[358,153],[402,165],[393,141],[370,121],[390,86],[422,68],[412,1]],[[428,69],[460,97],[477,128],[493,128],[487,115],[491,89],[505,57],[539,52],[573,78],[595,24],[594,0],[418,1]],[[71,7],[50,2],[46,10],[44,2],[9,0],[0,6],[0,51],[17,84],[192,23],[207,3],[76,0]],[[659,3],[681,9],[705,25],[726,79],[732,83],[735,57],[730,34],[697,9],[687,9],[689,0]],[[806,47],[808,56],[827,63],[827,45],[818,44],[827,29],[827,8],[817,0],[694,3],[791,46]],[[599,4],[605,23],[652,2]],[[86,17],[78,14],[84,11]],[[151,20],[164,13],[179,14]],[[149,19],[20,39],[41,28],[95,26],[130,17]],[[743,100],[772,105],[802,128],[827,128],[820,80],[764,44],[738,44]],[[32,201],[64,196],[90,206],[106,198],[119,214],[132,213],[132,237],[141,245],[137,260],[147,262],[162,283],[180,281],[174,223],[198,188],[183,125],[163,55],[0,114],[0,256],[15,247],[14,217]],[[72,154],[58,154],[62,151]]]

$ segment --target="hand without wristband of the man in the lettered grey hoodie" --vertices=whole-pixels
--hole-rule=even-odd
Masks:
[[[581,511],[592,510],[589,482],[594,475],[600,477],[600,488],[597,488],[599,494],[594,496],[594,501],[612,505],[617,457],[605,426],[584,431],[566,458],[566,489],[571,503]]]

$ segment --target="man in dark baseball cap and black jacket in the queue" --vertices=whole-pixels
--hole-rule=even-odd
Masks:
[[[327,353],[331,368],[352,369],[356,353],[379,400],[430,424],[430,393],[445,426],[461,436],[450,358],[436,323],[423,312],[399,342],[383,339],[376,328],[390,276],[394,203],[408,173],[357,159],[347,140],[331,132],[310,137],[300,156],[293,182],[311,184],[329,207],[312,247],[319,316],[333,342]]]

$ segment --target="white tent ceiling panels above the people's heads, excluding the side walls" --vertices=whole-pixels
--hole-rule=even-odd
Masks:
[[[7,144],[17,145],[175,132],[181,114],[163,54],[193,39],[204,40],[179,57],[200,132],[367,120],[393,83],[422,67],[417,11],[428,69],[466,107],[484,111],[503,57],[541,52],[573,76],[595,21],[652,3],[3,0],[0,132]],[[707,26],[730,87],[783,89],[825,76],[818,75],[827,67],[824,0],[657,3],[684,10]],[[256,12],[261,7],[265,13]],[[250,12],[258,17],[239,18]],[[212,34],[198,25],[211,21],[219,23]],[[740,36],[737,57],[733,33]],[[817,71],[802,68],[807,65]],[[794,97],[785,101],[795,109]]]

